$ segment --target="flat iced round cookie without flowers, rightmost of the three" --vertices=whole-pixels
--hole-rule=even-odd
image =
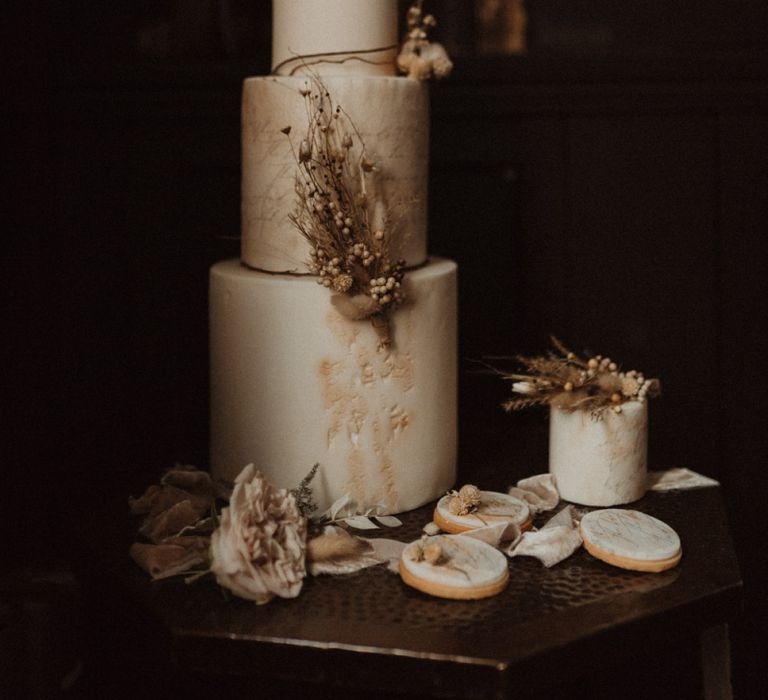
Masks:
[[[593,557],[622,569],[666,571],[683,555],[680,537],[669,525],[636,510],[595,510],[579,528]]]

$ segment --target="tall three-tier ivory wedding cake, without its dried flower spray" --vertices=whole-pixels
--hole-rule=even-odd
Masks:
[[[426,254],[428,85],[395,75],[396,10],[397,0],[274,0],[273,74],[243,88],[241,260],[210,278],[214,475],[253,462],[292,487],[317,462],[321,507],[349,494],[382,513],[439,497],[456,459],[457,269]],[[289,218],[309,158],[302,138],[322,116],[307,105],[324,100],[364,143],[372,184],[360,201],[390,258],[405,261],[389,345],[331,303],[310,274],[317,252]],[[382,285],[379,300],[393,284],[368,281]]]

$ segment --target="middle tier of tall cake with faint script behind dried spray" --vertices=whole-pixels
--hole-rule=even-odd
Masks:
[[[389,257],[427,258],[429,99],[424,81],[386,76],[248,78],[242,101],[241,259],[271,272],[303,272],[309,244],[291,223],[297,154],[310,118],[307,100],[325,89],[348,117],[352,138],[376,170],[366,176],[374,229]],[[309,95],[305,95],[307,90]],[[290,127],[289,133],[285,133]],[[356,130],[356,131],[355,131]]]

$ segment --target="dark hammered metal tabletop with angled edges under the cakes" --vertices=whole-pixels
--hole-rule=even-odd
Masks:
[[[721,490],[649,493],[632,507],[677,530],[679,566],[633,573],[584,549],[550,569],[518,557],[510,560],[507,589],[479,601],[432,598],[379,566],[308,577],[297,599],[259,607],[225,601],[211,580],[151,583],[126,556],[130,519],[114,511],[90,540],[127,595],[157,621],[178,667],[503,697],[521,686],[546,688],[649,643],[695,636],[738,614],[741,582]],[[417,539],[430,516],[426,506],[402,515],[402,527],[371,536]]]

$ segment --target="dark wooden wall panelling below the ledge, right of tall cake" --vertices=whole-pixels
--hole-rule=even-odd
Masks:
[[[747,594],[738,687],[753,693],[765,681],[747,640],[761,634],[768,576],[754,555],[768,465],[768,82],[765,64],[680,63],[459,66],[433,93],[431,247],[460,262],[466,360],[537,352],[554,333],[662,379],[651,468],[688,466],[726,489]],[[493,421],[496,380],[470,368],[465,411]]]

